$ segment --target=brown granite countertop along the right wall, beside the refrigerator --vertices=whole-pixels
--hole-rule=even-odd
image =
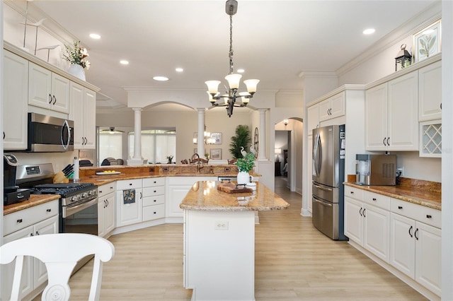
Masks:
[[[352,182],[343,183],[350,187],[372,191],[394,199],[416,203],[421,206],[442,210],[442,184],[419,179],[401,178],[396,186],[364,186]]]

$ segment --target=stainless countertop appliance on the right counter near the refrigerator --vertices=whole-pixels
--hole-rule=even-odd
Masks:
[[[396,185],[396,155],[355,155],[355,181],[360,185]]]

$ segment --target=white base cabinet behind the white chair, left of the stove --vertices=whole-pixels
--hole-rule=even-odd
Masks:
[[[23,237],[58,233],[58,200],[42,203],[4,216],[4,243]],[[9,300],[13,285],[14,263],[1,270],[1,300]],[[47,270],[42,261],[25,257],[21,281],[21,296],[27,299],[38,295],[47,281]]]

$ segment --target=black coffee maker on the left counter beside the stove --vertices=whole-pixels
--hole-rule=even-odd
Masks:
[[[16,156],[10,153],[3,154],[3,204],[18,203],[30,198],[28,189],[19,189],[16,186],[16,171],[19,165]]]

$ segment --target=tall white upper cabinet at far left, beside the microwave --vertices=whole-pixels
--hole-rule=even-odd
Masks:
[[[27,148],[28,61],[4,51],[3,145],[5,150]]]

